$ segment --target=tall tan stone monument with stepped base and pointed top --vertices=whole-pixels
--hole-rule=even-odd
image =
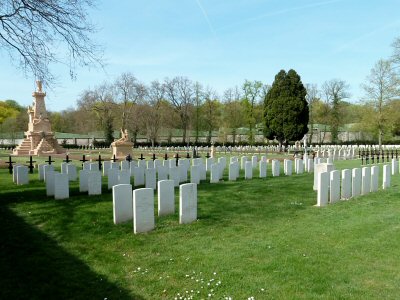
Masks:
[[[37,90],[32,93],[33,106],[28,107],[29,123],[25,139],[14,149],[15,155],[40,155],[64,153],[63,149],[51,131],[51,124],[47,117],[42,82],[36,81]]]

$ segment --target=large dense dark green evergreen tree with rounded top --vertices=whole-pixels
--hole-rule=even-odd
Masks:
[[[308,132],[307,91],[294,70],[281,70],[264,100],[265,136],[279,144],[300,140]]]

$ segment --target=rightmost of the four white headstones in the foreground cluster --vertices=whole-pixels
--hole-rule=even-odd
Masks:
[[[197,220],[197,184],[187,183],[179,187],[179,223]]]

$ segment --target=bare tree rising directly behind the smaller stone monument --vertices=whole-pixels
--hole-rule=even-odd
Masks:
[[[115,81],[115,99],[122,104],[121,106],[121,127],[126,129],[127,123],[132,116],[132,108],[139,101],[143,100],[146,94],[146,87],[137,81],[131,73],[123,73]]]

